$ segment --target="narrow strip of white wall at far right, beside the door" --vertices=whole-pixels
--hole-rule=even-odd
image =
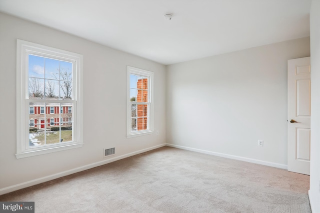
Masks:
[[[320,213],[320,1],[310,7],[311,52],[311,161],[309,201],[312,213]]]

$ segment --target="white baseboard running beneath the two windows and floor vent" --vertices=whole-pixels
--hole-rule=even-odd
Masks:
[[[5,187],[5,188],[0,189],[0,195],[6,194],[6,193],[9,193],[9,192],[13,192],[13,191],[16,191],[16,190],[20,190],[20,189],[23,189],[23,188],[26,188],[26,187],[34,186],[36,184],[41,184],[41,183],[44,183],[44,182],[47,182],[47,181],[51,181],[51,180],[56,179],[56,178],[61,178],[63,176],[71,175],[73,173],[77,173],[77,172],[81,172],[81,171],[84,171],[84,170],[87,170],[87,169],[98,167],[98,166],[101,166],[101,165],[104,165],[104,164],[111,163],[113,161],[117,161],[117,160],[121,160],[121,159],[124,159],[124,158],[128,158],[128,157],[131,157],[133,155],[144,153],[144,152],[147,152],[147,151],[150,151],[150,150],[153,150],[153,149],[157,149],[157,148],[160,148],[160,147],[164,147],[164,146],[165,146],[165,144],[156,145],[156,146],[153,146],[153,147],[149,147],[149,148],[145,148],[145,149],[138,150],[138,151],[135,151],[135,152],[131,152],[131,153],[128,153],[128,154],[125,154],[125,155],[121,155],[121,156],[117,156],[117,157],[113,157],[113,158],[108,158],[108,159],[105,159],[103,161],[99,161],[99,162],[96,162],[96,163],[84,165],[82,167],[77,167],[77,168],[74,168],[74,169],[71,169],[71,170],[67,170],[67,171],[64,171],[64,172],[56,173],[56,174],[53,174],[53,175],[45,176],[45,177],[42,177],[42,178],[37,178],[37,179],[31,180],[31,181],[27,181],[27,182],[24,182],[24,183],[20,183],[20,184],[16,184],[16,185],[13,185],[13,186]]]

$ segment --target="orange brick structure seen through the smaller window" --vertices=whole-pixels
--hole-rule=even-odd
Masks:
[[[148,101],[148,79],[138,79],[136,83],[137,96],[136,102],[147,102]],[[147,105],[137,104],[137,130],[147,129]]]

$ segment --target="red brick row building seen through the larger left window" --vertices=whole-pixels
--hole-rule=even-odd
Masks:
[[[29,127],[41,129],[49,129],[51,127],[71,127],[72,123],[72,106],[61,106],[59,115],[59,106],[47,105],[44,106],[29,105]],[[59,120],[61,117],[61,120]],[[64,122],[64,123],[61,123]]]

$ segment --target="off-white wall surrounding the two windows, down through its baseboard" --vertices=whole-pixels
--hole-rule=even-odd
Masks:
[[[16,39],[84,58],[82,148],[16,159]],[[126,66],[154,72],[154,129],[126,138]],[[165,144],[165,66],[55,29],[0,13],[0,194],[106,163],[103,148],[126,157]]]

